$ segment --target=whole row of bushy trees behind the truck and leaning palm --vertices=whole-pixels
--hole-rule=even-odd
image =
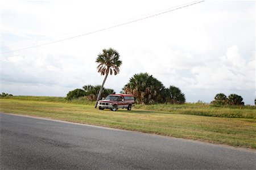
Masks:
[[[86,85],[82,89],[77,88],[76,90],[69,91],[66,99],[72,100],[86,96],[87,99],[96,101],[100,88],[100,85]],[[181,92],[180,88],[175,86],[165,88],[162,82],[148,73],[135,74],[122,90],[121,94],[133,94],[137,104],[185,103],[185,95]],[[114,90],[102,88],[100,98],[106,97],[109,94],[115,94]]]

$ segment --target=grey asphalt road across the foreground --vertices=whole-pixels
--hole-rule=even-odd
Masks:
[[[0,169],[256,169],[253,150],[0,114]]]

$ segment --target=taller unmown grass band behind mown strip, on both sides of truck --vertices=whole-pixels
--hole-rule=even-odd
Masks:
[[[7,96],[0,99],[14,99],[27,101],[47,101],[55,103],[72,103],[94,105],[95,101],[89,101],[86,97],[67,101],[65,97],[48,97],[48,96]],[[135,109],[145,111],[169,112],[172,114],[191,114],[197,116],[212,117],[230,117],[230,118],[253,118],[256,119],[256,107],[252,105],[246,106],[221,106],[203,103],[186,103],[186,104],[153,104],[142,105],[136,104]]]

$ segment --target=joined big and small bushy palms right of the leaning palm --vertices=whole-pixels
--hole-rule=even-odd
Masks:
[[[123,87],[125,94],[133,94],[137,104],[184,104],[185,95],[178,87],[165,88],[163,84],[147,73],[135,74]]]

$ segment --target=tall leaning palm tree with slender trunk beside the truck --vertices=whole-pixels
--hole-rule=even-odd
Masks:
[[[98,100],[100,100],[100,96],[109,73],[110,75],[113,73],[114,75],[117,75],[119,73],[119,67],[122,65],[122,61],[119,60],[119,57],[119,53],[113,48],[103,49],[102,53],[98,54],[96,59],[96,62],[100,63],[97,67],[98,73],[105,75],[105,78],[102,82],[101,89],[98,92],[96,104],[94,105],[95,108],[97,108]]]

